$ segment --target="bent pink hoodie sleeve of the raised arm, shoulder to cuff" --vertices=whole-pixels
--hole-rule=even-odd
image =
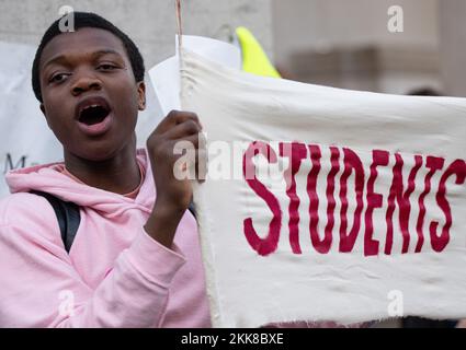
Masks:
[[[158,244],[140,228],[104,280],[90,288],[75,270],[59,237],[41,234],[44,228],[37,222],[44,218],[38,217],[54,213],[21,215],[21,220],[15,218],[20,226],[2,220],[8,215],[1,207],[0,327],[160,324],[170,283],[185,262],[181,254]]]

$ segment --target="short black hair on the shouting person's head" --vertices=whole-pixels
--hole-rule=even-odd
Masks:
[[[109,31],[110,33],[118,37],[123,42],[123,46],[125,47],[126,54],[128,55],[129,61],[132,63],[133,72],[136,78],[136,82],[144,81],[145,67],[144,67],[143,56],[140,55],[136,44],[125,33],[123,33],[111,22],[109,22],[107,20],[105,20],[104,18],[95,13],[91,13],[91,12],[72,12],[72,13],[75,15],[73,18],[75,31],[78,31],[84,27],[100,28],[100,30]],[[41,92],[41,82],[39,82],[41,56],[45,46],[54,37],[62,34],[62,32],[59,28],[60,20],[61,19],[58,19],[57,21],[55,21],[45,32],[44,36],[42,37],[41,44],[38,45],[38,48],[34,58],[33,67],[32,67],[33,90],[34,90],[35,96],[41,103],[43,102],[42,92]]]

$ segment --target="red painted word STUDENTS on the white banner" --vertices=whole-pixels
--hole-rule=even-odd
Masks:
[[[339,238],[338,250],[340,253],[351,253],[357,242],[357,237],[362,234],[364,256],[376,256],[380,254],[382,233],[385,235],[384,253],[386,255],[394,254],[394,242],[401,242],[401,254],[407,254],[411,242],[411,233],[417,236],[414,253],[420,253],[423,249],[425,235],[430,234],[431,247],[434,252],[441,253],[445,249],[451,241],[451,229],[454,218],[451,203],[447,196],[447,183],[453,176],[456,185],[464,185],[466,182],[466,162],[463,160],[454,161],[448,167],[444,168],[445,160],[428,155],[411,155],[413,159],[412,165],[406,168],[407,178],[404,180],[404,167],[407,166],[404,156],[400,153],[391,154],[394,165],[387,167],[390,162],[390,153],[384,150],[372,151],[372,159],[368,161],[368,170],[364,168],[362,158],[351,149],[330,147],[330,170],[327,174],[321,174],[322,153],[317,144],[304,144],[300,142],[282,142],[279,145],[280,156],[288,159],[288,166],[284,171],[284,179],[286,183],[286,197],[288,198],[288,241],[293,254],[303,254],[300,247],[299,222],[305,211],[299,210],[299,198],[302,191],[297,189],[297,176],[303,173],[303,162],[310,160],[310,171],[306,176],[306,192],[309,199],[308,220],[309,220],[309,237],[310,243],[319,254],[328,254],[332,247],[333,241]],[[264,200],[265,205],[272,212],[272,219],[269,223],[266,235],[259,236],[253,226],[252,218],[243,220],[243,233],[249,245],[261,256],[268,256],[277,249],[282,229],[282,207],[281,200],[257,177],[254,158],[258,155],[264,156],[269,164],[276,164],[279,156],[272,147],[266,142],[257,141],[249,145],[243,154],[243,177],[248,186],[253,192]],[[419,171],[424,166],[428,172],[424,178],[419,178]],[[342,168],[342,174],[340,170]],[[379,172],[383,176],[379,175]],[[432,184],[434,175],[437,172],[443,172],[435,176],[436,184]],[[367,183],[365,183],[367,176]],[[300,174],[304,175],[304,174]],[[391,182],[387,184],[387,175],[391,176]],[[320,177],[319,177],[320,176]],[[340,176],[340,178],[338,178]],[[353,176],[354,183],[349,184],[350,177]],[[380,178],[379,178],[380,176]],[[327,222],[322,234],[319,234],[319,203],[320,199],[317,192],[318,178],[321,178],[326,188],[326,218]],[[379,179],[378,179],[379,178]],[[340,212],[337,212],[338,203],[336,200],[336,187],[339,180]],[[387,189],[379,189],[376,192],[375,185],[384,184]],[[320,183],[319,183],[320,184]],[[451,186],[451,185],[448,185]],[[389,187],[389,188],[388,188]],[[377,187],[378,188],[378,187]],[[432,221],[425,226],[425,218],[429,208],[425,205],[425,198],[435,188],[436,205],[445,217],[444,223]],[[355,208],[351,218],[348,218],[350,201],[348,198],[349,190],[355,194]],[[417,195],[419,194],[419,197]],[[365,196],[364,196],[365,195]],[[384,200],[386,198],[386,200]],[[364,200],[365,199],[365,200]],[[363,211],[364,211],[364,218]],[[413,218],[414,208],[418,206],[419,214]],[[375,228],[380,230],[380,224],[374,225],[374,211],[384,210],[386,222],[386,231],[375,232]],[[395,210],[398,209],[398,220],[394,220]],[[364,219],[364,220],[363,220]],[[416,221],[413,221],[416,220]],[[396,223],[394,223],[396,221]],[[410,232],[410,222],[412,228],[416,225],[416,233]],[[352,225],[350,224],[352,222]],[[364,223],[364,230],[362,225]],[[338,225],[339,224],[339,225]],[[339,233],[336,232],[339,226]],[[396,230],[395,230],[396,228]],[[429,229],[429,233],[424,231]],[[395,231],[399,235],[395,235]],[[377,237],[374,234],[377,233]],[[263,238],[262,238],[263,237]]]

